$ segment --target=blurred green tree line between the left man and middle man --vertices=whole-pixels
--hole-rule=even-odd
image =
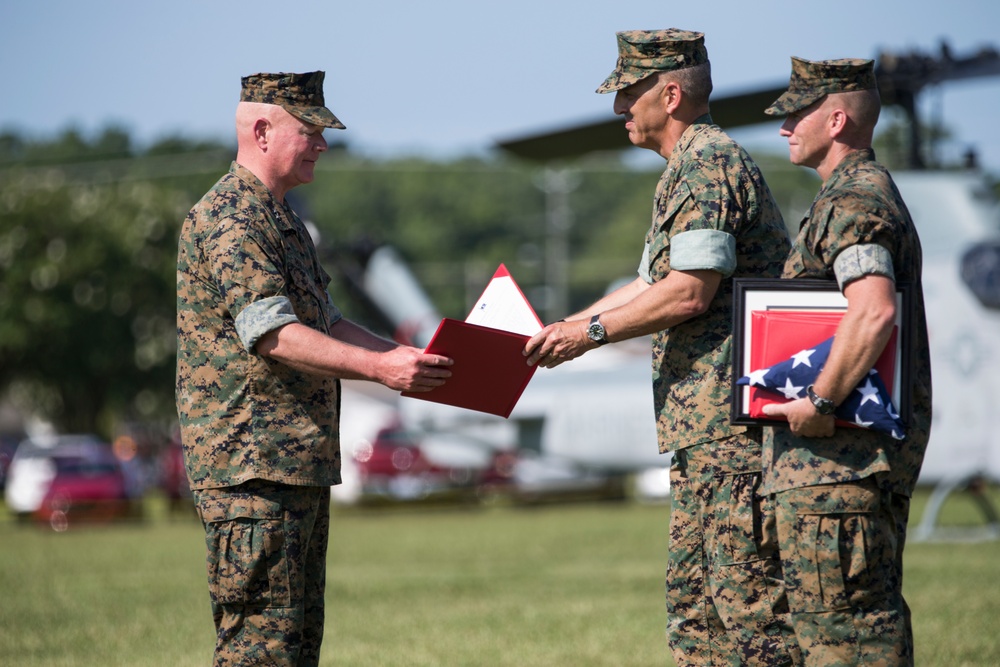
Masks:
[[[566,243],[576,308],[635,269],[658,174],[611,160],[574,167],[570,175]],[[336,156],[318,163],[315,183],[297,196],[328,253],[392,244],[441,312],[464,317],[500,262],[536,308],[543,306],[551,242],[543,176],[539,168],[495,160],[373,163]]]

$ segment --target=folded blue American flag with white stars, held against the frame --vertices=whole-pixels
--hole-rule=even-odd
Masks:
[[[758,387],[784,396],[788,400],[802,398],[823,369],[833,336],[822,343],[801,350],[770,368],[761,368],[744,375],[736,384]],[[888,433],[896,440],[906,437],[905,427],[892,397],[878,371],[874,368],[858,383],[848,397],[837,406],[834,416],[850,424]]]

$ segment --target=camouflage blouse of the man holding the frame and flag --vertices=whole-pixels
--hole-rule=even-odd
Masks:
[[[910,394],[906,439],[872,430],[838,427],[830,438],[801,438],[787,427],[765,429],[764,486],[787,489],[863,479],[887,473],[892,491],[910,495],[916,484],[931,424],[931,364],[921,286],[920,239],[889,172],[871,149],[849,154],[813,201],[792,252],[785,278],[833,279],[833,264],[847,248],[876,244],[892,257],[897,284],[910,285]],[[897,409],[900,406],[896,406]]]

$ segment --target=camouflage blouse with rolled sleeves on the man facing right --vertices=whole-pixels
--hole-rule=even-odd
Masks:
[[[340,318],[329,282],[302,221],[240,165],[191,209],[177,256],[177,410],[192,488],[340,482],[338,381],[253,349],[291,321],[328,332]],[[241,313],[266,315],[267,303],[283,307],[242,339]]]

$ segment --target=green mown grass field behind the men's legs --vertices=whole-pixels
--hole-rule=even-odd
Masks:
[[[945,510],[949,523],[979,521],[962,498]],[[635,503],[337,509],[323,664],[672,665],[667,513]],[[155,500],[143,522],[60,534],[4,515],[0,665],[210,664],[203,549],[197,520],[169,518]],[[917,665],[1000,665],[1000,542],[910,544],[905,582]]]

